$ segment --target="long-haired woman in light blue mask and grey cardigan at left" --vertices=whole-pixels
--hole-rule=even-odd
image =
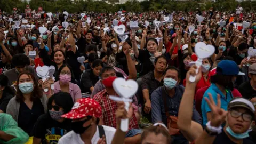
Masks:
[[[47,112],[47,97],[30,73],[21,73],[17,85],[17,95],[9,101],[6,113],[31,136],[38,117]]]

